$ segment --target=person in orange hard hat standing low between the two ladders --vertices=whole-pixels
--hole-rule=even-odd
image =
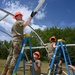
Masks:
[[[40,53],[38,51],[34,52],[33,53],[34,75],[41,75],[42,63],[39,59],[40,59]],[[32,74],[32,67],[30,67],[30,74]]]

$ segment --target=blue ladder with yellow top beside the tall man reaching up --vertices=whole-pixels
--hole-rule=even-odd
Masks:
[[[18,59],[17,59],[16,65],[14,67],[12,75],[17,75],[17,70],[18,70],[20,61],[24,57],[25,46],[26,46],[27,41],[29,42],[29,46],[30,46],[31,59],[33,57],[33,55],[32,55],[32,48],[31,48],[31,42],[30,42],[30,34],[26,34],[24,39],[23,39],[21,52],[20,52],[20,54],[18,56]],[[24,75],[26,75],[26,73],[25,73],[25,58],[23,58],[23,70],[24,70]],[[32,61],[32,75],[34,75],[34,63],[33,63],[33,61]]]

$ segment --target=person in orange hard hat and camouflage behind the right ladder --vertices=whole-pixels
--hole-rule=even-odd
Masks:
[[[49,61],[49,65],[50,65],[51,61],[52,61],[52,56],[54,54],[54,49],[56,48],[56,37],[55,36],[50,37],[49,41],[50,41],[49,43],[46,43],[44,45],[48,46],[48,48],[47,48],[47,50],[48,50],[48,61]],[[61,63],[62,63],[62,60],[59,60],[58,74],[60,73],[60,71],[62,71],[62,64]],[[54,71],[54,65],[53,65],[53,68],[52,68],[52,71],[51,71],[51,75],[54,75],[53,71]]]

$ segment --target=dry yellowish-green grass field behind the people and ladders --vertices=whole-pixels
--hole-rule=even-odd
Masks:
[[[0,74],[1,74],[1,71],[2,71],[2,69],[4,67],[5,61],[6,60],[0,59]],[[22,61],[21,61],[19,69],[18,69],[18,75],[23,75],[23,68],[21,68],[22,65],[23,64],[22,64]],[[65,67],[64,64],[63,64],[63,67]],[[26,75],[30,75],[30,71],[29,71],[30,67],[28,66],[28,67],[26,67],[26,69],[27,69]],[[47,73],[47,70],[48,70],[48,62],[42,62],[42,67],[41,67],[42,73]],[[63,70],[66,71],[66,69],[63,69]],[[66,74],[62,74],[62,75],[66,75]],[[73,74],[71,73],[71,75],[73,75]]]

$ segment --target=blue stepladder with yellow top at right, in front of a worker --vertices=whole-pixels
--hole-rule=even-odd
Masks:
[[[68,67],[68,64],[72,65],[72,63],[71,63],[71,59],[70,59],[70,56],[69,56],[69,53],[68,53],[68,50],[66,47],[66,43],[62,39],[59,39],[56,43],[56,48],[54,49],[54,54],[53,54],[51,63],[49,65],[47,75],[51,75],[51,71],[53,69],[54,64],[56,64],[56,66],[55,66],[56,69],[53,72],[54,73],[53,75],[60,75],[60,74],[57,74],[57,69],[58,69],[58,63],[60,61],[61,53],[63,54],[63,58],[65,61],[66,70],[67,70],[67,73],[65,73],[65,74],[66,75],[75,75],[74,70],[72,70],[73,74],[70,73],[70,69]]]

